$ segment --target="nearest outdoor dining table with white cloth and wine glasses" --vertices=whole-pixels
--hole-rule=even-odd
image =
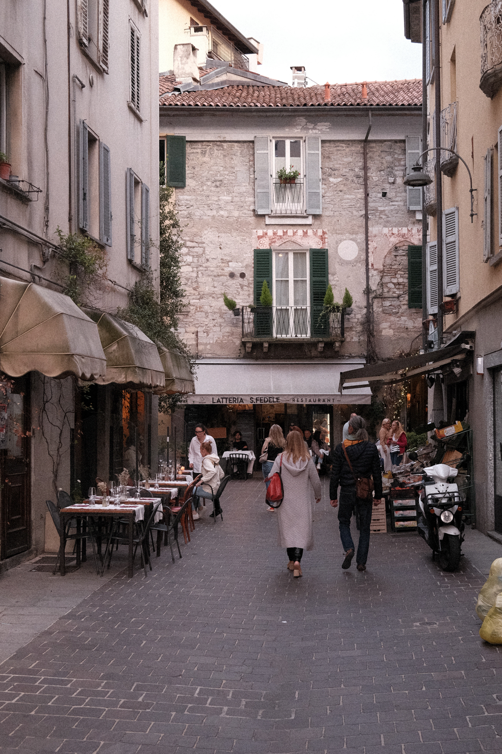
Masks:
[[[59,519],[61,520],[61,535],[59,538],[59,552],[61,553],[61,566],[60,566],[60,573],[62,576],[65,575],[65,547],[66,547],[66,523],[68,520],[71,520],[72,518],[75,518],[77,520],[77,530],[80,532],[81,530],[81,522],[83,519],[87,519],[88,516],[92,517],[106,517],[106,518],[121,518],[127,520],[127,532],[128,532],[128,544],[129,544],[129,553],[128,553],[128,561],[127,561],[127,567],[128,567],[128,577],[132,578],[132,572],[133,572],[133,547],[132,547],[132,529],[133,529],[133,523],[142,521],[145,519],[145,505],[151,505],[153,503],[153,498],[140,498],[139,500],[136,500],[135,498],[128,498],[125,502],[120,503],[118,505],[106,505],[103,506],[102,504],[97,504],[96,502],[91,503],[90,501],[84,501],[81,504],[78,505],[71,505],[66,508],[61,508],[59,510]],[[163,516],[163,511],[157,511],[157,514],[155,516],[155,521],[160,521]],[[77,565],[80,565],[80,551],[77,547]]]

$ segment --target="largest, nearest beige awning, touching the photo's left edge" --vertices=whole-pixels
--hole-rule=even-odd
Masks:
[[[96,324],[68,296],[0,277],[0,370],[96,380],[106,360]]]

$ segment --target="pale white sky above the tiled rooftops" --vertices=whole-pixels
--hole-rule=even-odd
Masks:
[[[258,72],[291,84],[421,78],[421,44],[404,38],[403,0],[211,0],[246,37],[263,43]]]

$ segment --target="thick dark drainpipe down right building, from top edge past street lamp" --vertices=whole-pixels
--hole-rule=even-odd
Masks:
[[[440,72],[440,0],[433,0],[434,26],[434,146],[441,146],[441,72]],[[443,345],[443,179],[441,173],[441,151],[436,155],[436,207],[437,207],[437,342]]]

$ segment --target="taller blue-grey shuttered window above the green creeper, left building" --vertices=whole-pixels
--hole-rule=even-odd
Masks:
[[[111,246],[110,148],[81,121],[78,159],[78,218],[82,231]]]

